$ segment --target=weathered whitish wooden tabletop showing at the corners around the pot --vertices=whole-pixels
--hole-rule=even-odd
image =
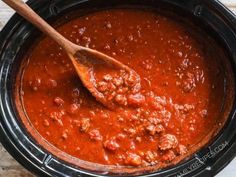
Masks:
[[[236,0],[221,0],[232,11],[236,13]],[[2,1],[0,1],[0,30],[7,20],[14,13]],[[1,146],[0,144],[0,177],[31,177],[21,165],[19,165]],[[236,176],[236,159],[234,159],[217,177],[235,177]]]

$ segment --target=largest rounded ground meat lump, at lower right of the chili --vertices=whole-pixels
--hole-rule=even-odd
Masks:
[[[173,149],[178,145],[178,140],[174,135],[165,134],[160,138],[159,148],[160,150]]]

